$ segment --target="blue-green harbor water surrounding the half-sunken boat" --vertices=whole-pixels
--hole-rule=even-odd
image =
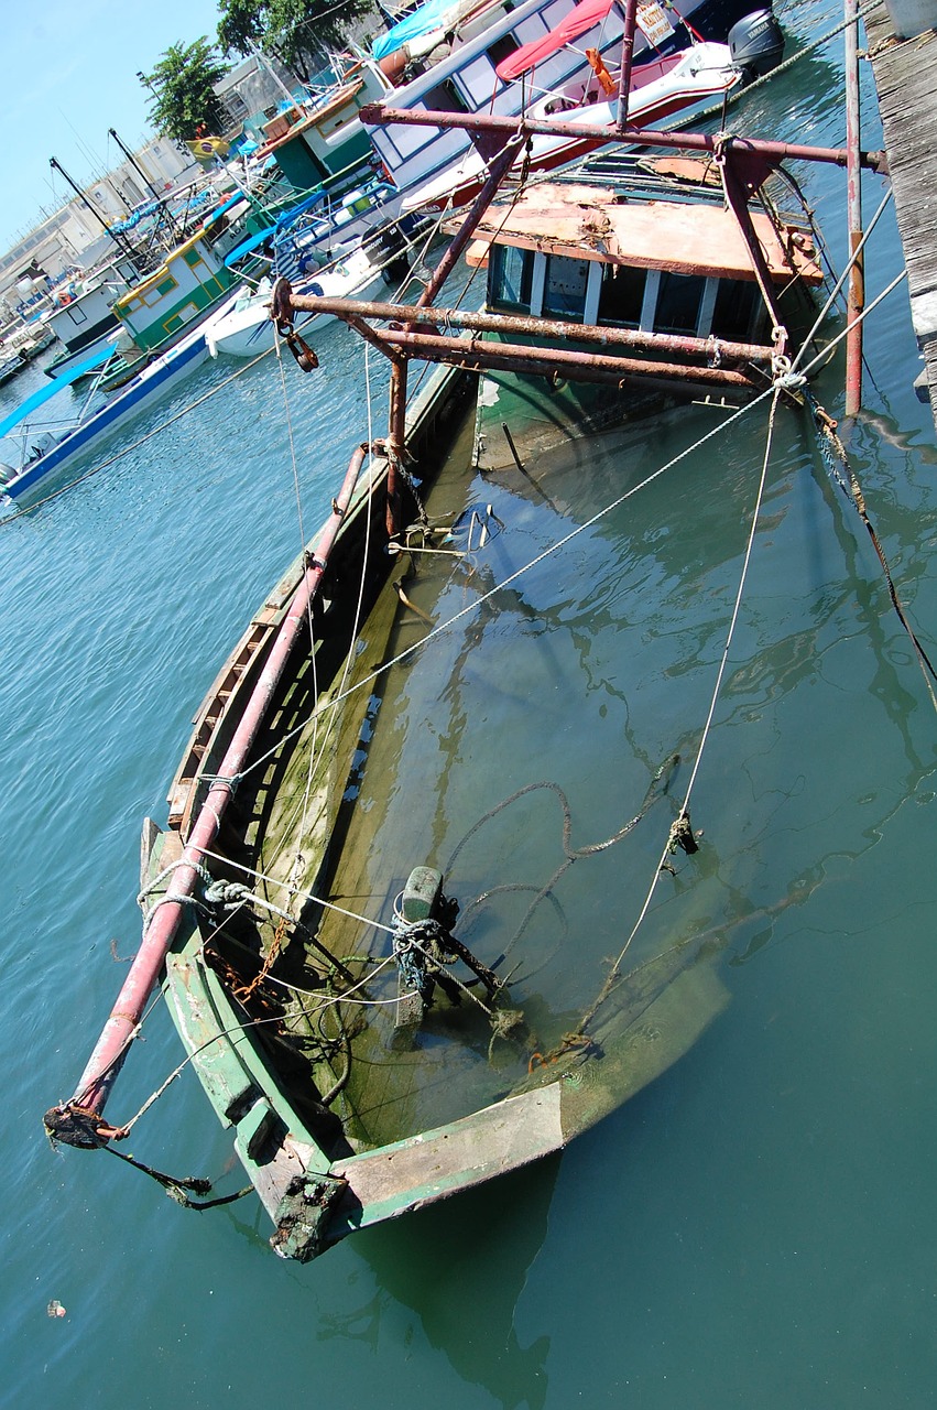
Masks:
[[[829,0],[778,13],[792,47],[840,18]],[[841,45],[759,87],[730,125],[838,145]],[[868,65],[862,97],[874,148]],[[840,266],[845,176],[796,175]],[[867,212],[882,190],[864,178]],[[868,299],[900,268],[889,210],[869,244]],[[774,430],[752,606],[693,815],[710,881],[737,891],[740,922],[720,933],[731,1001],[676,1066],[561,1156],[304,1266],[271,1252],[254,1196],[193,1213],[111,1153],[46,1142],[42,1112],[72,1093],[138,943],[141,821],[165,822],[216,671],[327,513],[354,446],[385,429],[373,355],[338,326],[318,354],[306,378],[272,357],[203,365],[107,447],[132,440],[127,454],[0,527],[0,1404],[933,1406],[937,716],[868,534],[790,407]],[[933,658],[937,444],[913,392],[903,286],[871,314],[865,355],[865,409],[841,430]],[[39,378],[0,389],[0,415]],[[841,416],[841,357],[817,395]],[[662,464],[719,415],[668,416],[641,464]],[[706,534],[724,578],[685,581],[731,603],[765,423],[668,472],[655,515],[635,498],[676,587],[668,598],[623,560],[635,670],[647,666],[614,682],[612,709],[652,698],[666,654],[679,685],[674,653],[689,642],[714,677],[721,642],[696,632],[706,603],[681,598],[681,577]],[[595,455],[613,484],[607,447]],[[588,656],[589,616],[573,608]],[[775,644],[747,671],[755,634]],[[693,702],[693,737],[703,722]],[[575,777],[575,739],[562,749]],[[483,760],[461,760],[473,766]],[[689,871],[678,880],[692,885]],[[623,935],[633,922],[623,915]],[[179,1060],[156,1004],[108,1117],[135,1112]],[[189,1069],[127,1148],[176,1176],[241,1183]]]

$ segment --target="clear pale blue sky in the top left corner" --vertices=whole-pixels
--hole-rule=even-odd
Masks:
[[[56,157],[79,185],[121,161],[107,128],[135,149],[151,135],[152,70],[170,44],[214,38],[216,0],[41,0],[3,6],[0,83],[0,251],[72,195]]]

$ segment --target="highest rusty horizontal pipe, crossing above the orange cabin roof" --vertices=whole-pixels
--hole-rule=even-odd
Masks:
[[[576,123],[558,123],[555,120],[534,120],[530,117],[500,117],[497,114],[476,113],[430,113],[424,109],[410,110],[402,107],[382,107],[371,103],[362,107],[359,114],[362,123],[387,125],[400,123],[404,127],[457,127],[468,133],[520,133],[524,137],[575,137],[578,141],[603,142],[634,142],[640,147],[665,147],[688,152],[716,152],[720,144],[719,134],[705,133],[664,133],[657,128],[643,127],[586,127]],[[844,147],[806,147],[798,142],[768,142],[755,138],[734,138],[737,149],[758,152],[772,161],[814,161],[827,162],[834,166],[845,166],[847,151]],[[888,172],[885,152],[860,152],[860,162],[871,171]]]

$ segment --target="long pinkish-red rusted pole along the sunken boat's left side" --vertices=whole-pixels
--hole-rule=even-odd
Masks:
[[[221,829],[221,821],[232,797],[232,784],[225,780],[235,778],[248,761],[249,752],[263,723],[273,692],[283,677],[293,647],[309,620],[309,606],[321,584],[328,556],[342,516],[351,502],[351,495],[358,482],[366,453],[368,447],[359,446],[351,458],[333,515],[320,534],[314,554],[309,560],[306,572],[303,574],[303,581],[293,595],[266,664],[247,701],[238,728],[221,760],[218,776],[209,788],[207,798],[189,833],[189,840],[182,853],[183,860],[172,873],[173,900],[163,901],[147,926],[130,973],[117,995],[117,1003],[75,1089],[75,1096],[63,1108],[54,1108],[49,1115],[55,1112],[59,1115],[66,1114],[68,1107],[72,1104],[96,1114],[100,1114],[104,1108],[114,1079],[124,1063],[131,1042],[137,1036],[137,1028],[147,1000],[166,963],[166,955],[185,915],[185,901],[194,893],[199,878],[197,869],[204,859],[206,850],[214,846]],[[175,897],[179,897],[179,900],[175,900]],[[61,1134],[58,1125],[56,1134]],[[68,1141],[68,1135],[61,1134],[61,1139]]]

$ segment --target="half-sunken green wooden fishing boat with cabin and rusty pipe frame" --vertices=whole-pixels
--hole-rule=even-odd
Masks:
[[[275,1222],[275,1246],[309,1258],[561,1148],[723,1010],[724,929],[757,916],[724,871],[731,859],[695,835],[689,801],[759,477],[720,486],[737,534],[716,547],[712,413],[681,413],[675,458],[696,454],[709,477],[693,533],[671,543],[666,494],[635,510],[638,491],[666,468],[655,455],[665,423],[628,420],[630,398],[616,412],[623,439],[578,436],[579,413],[564,412],[559,451],[489,468],[473,406],[502,374],[516,379],[511,395],[527,386],[541,402],[544,382],[634,389],[641,412],[643,391],[661,382],[679,395],[723,386],[774,412],[806,396],[809,368],[795,375],[775,285],[813,282],[812,254],[782,224],[786,264],[774,268],[758,213],[748,199],[736,209],[733,144],[716,155],[728,166],[720,182],[748,279],[721,251],[724,265],[668,268],[674,247],[668,255],[662,238],[641,265],[634,233],[609,217],[589,238],[579,228],[572,248],[559,231],[555,248],[533,251],[572,261],[573,274],[585,264],[581,278],[558,265],[551,283],[548,264],[520,259],[510,288],[527,285],[516,302],[530,312],[516,323],[440,309],[459,252],[486,233],[486,193],[416,306],[283,293],[285,324],[296,307],[335,313],[387,357],[387,436],[355,451],[321,534],[254,615],[199,712],[169,828],[144,833],[141,952],[73,1097],[46,1114],[51,1134],[93,1148],[135,1125],[110,1124],[103,1108],[161,981],[186,1060]],[[738,155],[751,175],[754,157],[771,168],[781,154],[747,144]],[[500,175],[513,157],[503,154]],[[666,220],[705,209],[705,186],[689,180],[695,195],[672,202]],[[488,233],[493,309],[504,259],[528,248],[516,204],[517,223],[502,207]],[[645,271],[640,313],[603,326],[604,269],[616,262],[628,288],[627,271]],[[665,274],[700,283],[671,303]],[[738,307],[744,282],[765,302],[767,341],[757,341],[755,307]],[[550,289],[566,303],[544,319]],[[736,338],[714,333],[723,290],[744,319]],[[664,309],[689,319],[693,292],[693,330],[661,327]],[[586,323],[592,307],[599,321]],[[472,337],[452,338],[459,324]],[[407,410],[420,361],[447,368]],[[762,484],[768,450],[761,437]],[[681,601],[695,603],[689,623],[668,611],[678,581]],[[738,728],[761,704],[754,687],[757,698],[745,694],[758,667],[750,642]],[[785,774],[786,761],[776,767]],[[731,778],[726,799],[740,807]],[[778,907],[805,884],[792,880]]]

